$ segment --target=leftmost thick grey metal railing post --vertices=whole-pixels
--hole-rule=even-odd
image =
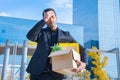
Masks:
[[[10,54],[10,44],[9,44],[9,40],[7,40],[5,50],[4,50],[4,62],[3,62],[3,68],[2,68],[2,80],[7,80],[6,77],[7,77],[9,54]]]

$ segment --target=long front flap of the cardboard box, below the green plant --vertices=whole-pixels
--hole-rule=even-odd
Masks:
[[[60,51],[51,52],[48,57],[59,56],[59,55],[63,55],[63,54],[69,54],[70,50],[71,50],[70,48],[65,48],[65,49],[60,50]]]

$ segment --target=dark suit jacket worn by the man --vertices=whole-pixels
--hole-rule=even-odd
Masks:
[[[41,74],[45,68],[49,49],[48,46],[48,31],[47,28],[42,28],[45,25],[44,20],[38,22],[27,34],[27,38],[31,41],[37,42],[37,48],[33,57],[27,67],[27,72],[31,74]],[[69,32],[58,28],[58,43],[59,42],[76,42]],[[80,45],[81,60],[87,63],[86,50]]]

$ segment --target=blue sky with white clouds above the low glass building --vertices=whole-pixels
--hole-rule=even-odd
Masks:
[[[48,7],[55,9],[59,23],[72,24],[72,0],[0,0],[0,16],[40,20]]]

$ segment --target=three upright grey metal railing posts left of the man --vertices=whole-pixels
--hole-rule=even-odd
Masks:
[[[24,41],[23,47],[22,47],[22,60],[21,60],[21,66],[20,66],[20,80],[25,80],[25,69],[26,69],[26,63],[27,63],[27,41]],[[13,46],[13,64],[11,65],[11,78],[10,80],[14,80],[14,70],[15,70],[15,55],[17,53],[17,43]],[[9,54],[10,54],[10,44],[9,40],[6,41],[6,46],[4,49],[4,62],[3,62],[3,68],[2,68],[2,80],[7,80],[7,69],[9,67]]]

